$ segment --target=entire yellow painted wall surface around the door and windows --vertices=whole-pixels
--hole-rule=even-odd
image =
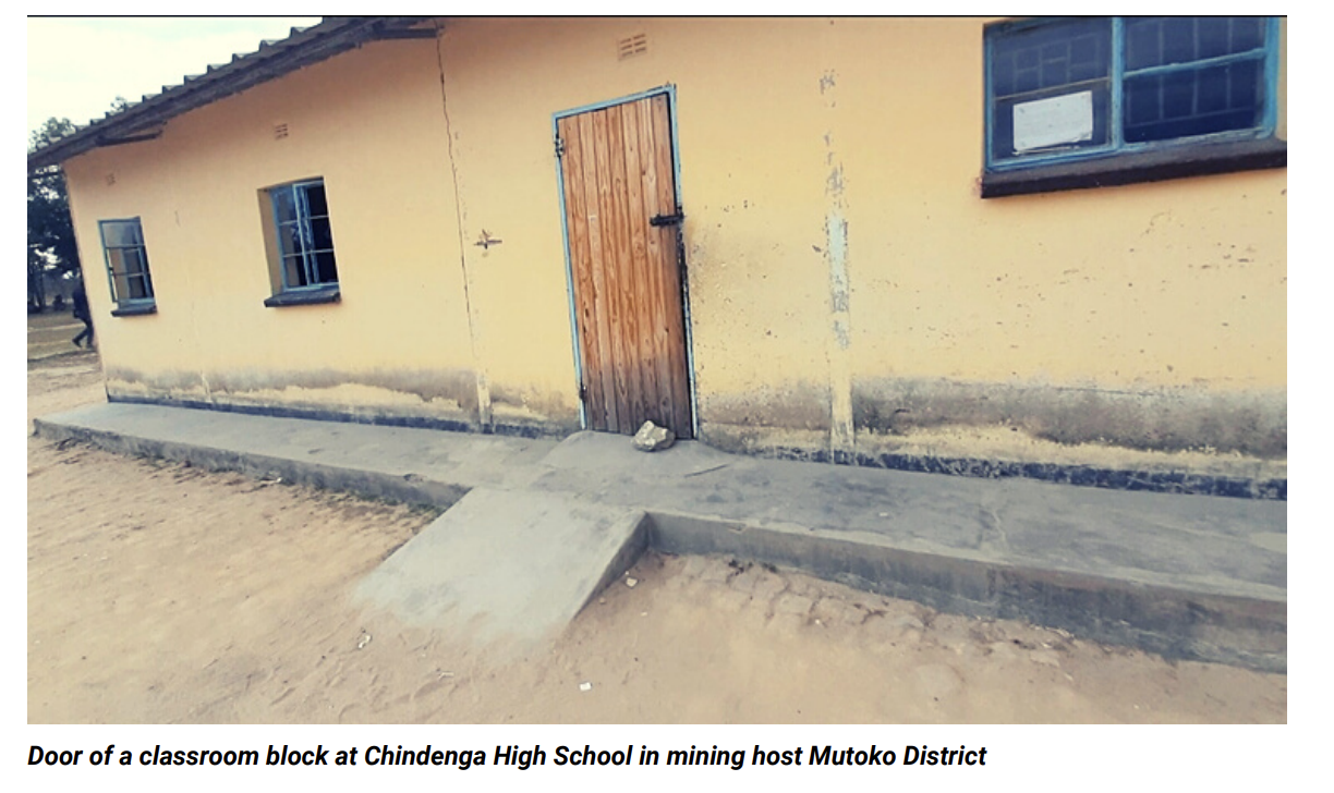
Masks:
[[[635,33],[648,52],[618,60]],[[384,376],[414,372],[480,395],[470,421],[568,428],[552,113],[674,84],[704,440],[1002,425],[1281,456],[1286,172],[982,200],[982,40],[976,19],[450,20],[444,103],[435,44],[396,41],[187,113],[68,164],[85,263],[96,219],[143,215],[157,284],[157,316],[99,323],[109,381],[327,368],[392,385],[346,410],[452,414]],[[265,309],[256,189],[316,175],[344,300]],[[339,391],[317,385],[253,398]]]

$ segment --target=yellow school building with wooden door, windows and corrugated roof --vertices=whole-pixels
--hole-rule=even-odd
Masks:
[[[327,17],[28,161],[67,173],[113,401],[1259,480],[1285,41]]]

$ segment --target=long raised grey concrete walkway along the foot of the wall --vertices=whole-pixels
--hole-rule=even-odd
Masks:
[[[614,566],[644,545],[732,554],[1167,657],[1286,669],[1282,501],[764,460],[695,442],[643,454],[596,433],[531,440],[121,402],[36,426],[406,501],[450,505],[475,488],[567,494],[643,513],[630,552],[606,560]]]

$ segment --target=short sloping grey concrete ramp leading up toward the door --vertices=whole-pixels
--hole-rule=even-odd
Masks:
[[[563,630],[647,544],[640,509],[476,488],[367,576],[355,598],[411,625],[531,646]]]

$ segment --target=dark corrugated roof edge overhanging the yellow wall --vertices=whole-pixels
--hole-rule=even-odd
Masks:
[[[434,39],[434,29],[412,29],[431,17],[325,17],[320,24],[292,28],[287,39],[260,41],[255,52],[233,55],[225,64],[187,75],[177,85],[163,85],[124,109],[75,128],[72,135],[28,155],[28,169],[59,165],[89,149],[148,140],[160,133],[168,119],[240,93],[261,83],[334,57],[370,41],[384,39]]]

